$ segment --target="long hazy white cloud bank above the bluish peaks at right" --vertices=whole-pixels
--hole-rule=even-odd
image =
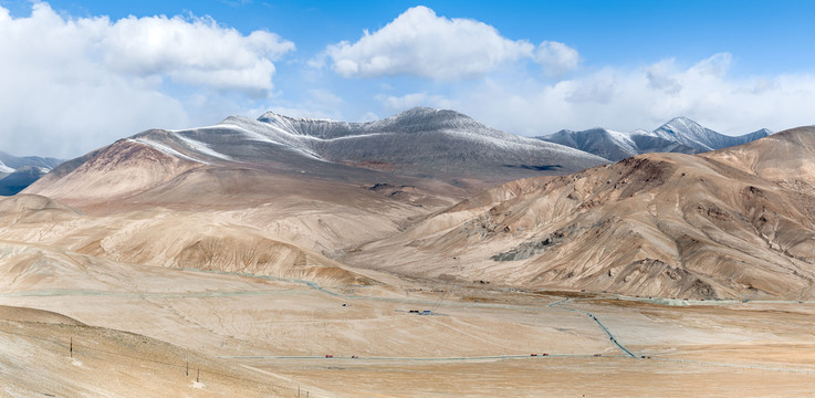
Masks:
[[[731,62],[720,53],[685,67],[664,60],[554,84],[488,80],[457,98],[467,98],[460,111],[529,136],[594,126],[652,129],[675,116],[730,135],[815,124],[815,75],[733,77]]]

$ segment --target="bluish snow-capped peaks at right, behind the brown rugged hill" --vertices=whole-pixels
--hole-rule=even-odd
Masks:
[[[637,129],[621,133],[597,127],[581,132],[560,130],[536,138],[581,149],[610,161],[619,161],[630,156],[649,153],[699,154],[746,144],[770,134],[772,132],[762,128],[731,137],[706,128],[687,117],[675,117],[652,132]]]

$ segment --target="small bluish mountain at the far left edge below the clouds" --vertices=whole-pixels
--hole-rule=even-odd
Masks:
[[[20,192],[62,163],[61,159],[18,157],[0,151],[0,196]]]

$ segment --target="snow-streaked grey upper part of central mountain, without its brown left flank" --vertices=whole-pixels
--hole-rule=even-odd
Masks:
[[[565,174],[606,163],[558,144],[488,127],[453,111],[416,107],[368,123],[272,112],[218,125],[128,138],[200,164],[239,163],[335,174],[337,165],[452,180]],[[317,171],[322,170],[322,171]]]

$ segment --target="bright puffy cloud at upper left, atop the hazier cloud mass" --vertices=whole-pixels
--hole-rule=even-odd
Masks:
[[[242,35],[211,18],[128,17],[97,19],[98,49],[113,71],[136,76],[167,75],[174,81],[219,90],[272,88],[274,64],[294,43],[274,33]],[[88,27],[90,28],[90,27]]]

